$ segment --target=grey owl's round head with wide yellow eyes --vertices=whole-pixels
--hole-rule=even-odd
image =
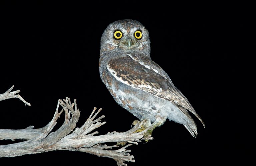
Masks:
[[[150,40],[146,28],[135,20],[115,21],[105,29],[101,37],[102,52],[142,51],[150,53]]]

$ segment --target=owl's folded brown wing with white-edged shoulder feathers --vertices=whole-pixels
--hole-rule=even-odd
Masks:
[[[187,98],[173,85],[163,69],[150,59],[138,62],[130,55],[116,58],[108,62],[107,69],[118,81],[171,101],[183,107],[180,110],[184,114],[188,114],[187,110],[191,111],[204,125]]]

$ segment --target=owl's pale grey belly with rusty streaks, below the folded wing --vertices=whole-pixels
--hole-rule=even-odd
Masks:
[[[120,106],[134,116],[140,120],[150,119],[152,123],[155,122],[157,117],[163,119],[172,117],[173,121],[182,123],[182,119],[178,115],[178,108],[171,102],[142,90],[131,88],[126,85],[119,85],[113,97]]]

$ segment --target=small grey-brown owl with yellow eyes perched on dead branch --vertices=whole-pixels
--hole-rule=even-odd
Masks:
[[[152,123],[152,129],[169,119],[195,137],[197,126],[188,111],[205,127],[168,74],[151,60],[149,33],[140,22],[127,19],[108,25],[101,37],[99,72],[114,100],[139,120]]]

